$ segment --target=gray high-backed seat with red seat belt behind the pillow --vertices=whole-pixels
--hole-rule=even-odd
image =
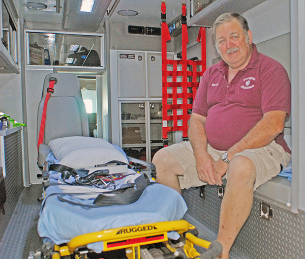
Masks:
[[[42,168],[50,151],[48,143],[52,139],[67,136],[89,136],[87,112],[77,76],[68,73],[52,73],[45,77],[42,98],[38,107],[37,143],[51,77],[56,78],[56,83],[54,93],[51,94],[47,105],[43,143],[38,148],[37,163],[40,168]]]

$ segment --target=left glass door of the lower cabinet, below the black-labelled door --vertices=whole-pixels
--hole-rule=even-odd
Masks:
[[[121,147],[128,156],[146,161],[145,102],[121,103]]]

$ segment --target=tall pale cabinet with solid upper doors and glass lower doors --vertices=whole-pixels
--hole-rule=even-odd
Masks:
[[[111,142],[150,162],[163,147],[161,52],[110,50],[110,70]]]

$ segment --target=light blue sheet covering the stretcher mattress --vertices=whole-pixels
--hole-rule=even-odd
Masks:
[[[50,157],[49,160],[54,162],[54,157]],[[135,178],[140,176],[131,169],[126,174],[125,178],[116,181],[116,188],[129,182],[133,183]],[[51,171],[50,182],[58,182],[60,176],[57,172]],[[88,208],[60,201],[58,199],[60,193],[66,193],[64,194],[66,199],[77,200],[78,203],[83,204],[92,204],[93,197],[97,196],[96,194],[69,196],[67,192],[78,192],[81,187],[72,186],[71,188],[76,188],[69,190],[69,185],[64,186],[66,189],[62,185],[53,185],[46,189],[47,198],[44,199],[38,221],[39,235],[50,239],[57,245],[67,243],[73,237],[104,229],[179,220],[187,211],[187,205],[177,191],[158,183],[148,185],[133,204],[99,208]],[[96,187],[85,188],[98,189]],[[80,190],[80,192],[87,192],[87,189]],[[54,193],[58,194],[53,195]],[[172,239],[179,237],[175,232],[169,233],[168,236]],[[103,250],[103,243],[93,243],[87,247],[100,253]]]

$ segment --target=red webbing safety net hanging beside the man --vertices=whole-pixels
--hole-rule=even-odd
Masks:
[[[181,60],[168,60],[166,43],[170,39],[165,23],[165,3],[161,6],[162,19],[162,114],[164,145],[167,146],[168,132],[182,131],[184,139],[188,136],[188,120],[193,107],[199,78],[206,69],[205,28],[199,30],[197,41],[201,41],[201,61],[187,60],[187,18],[186,5],[182,4],[182,50]]]

